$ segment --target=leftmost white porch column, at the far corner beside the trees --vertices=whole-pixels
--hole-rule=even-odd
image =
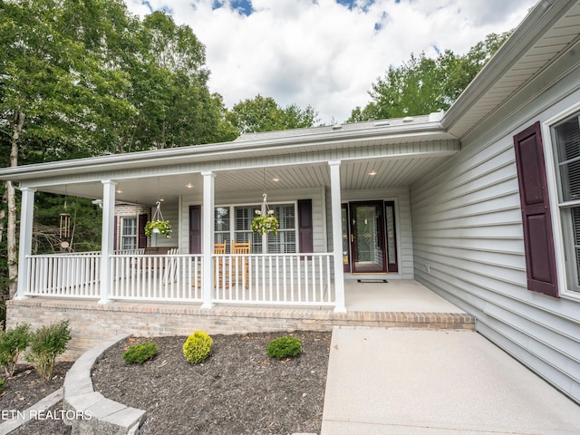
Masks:
[[[28,299],[24,292],[28,288],[30,271],[26,256],[33,250],[34,192],[36,189],[22,188],[22,208],[20,211],[20,242],[18,245],[18,285],[14,299]]]

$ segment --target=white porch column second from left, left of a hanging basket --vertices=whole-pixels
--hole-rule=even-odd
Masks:
[[[102,238],[101,238],[101,299],[99,304],[109,304],[111,285],[111,254],[115,237],[115,187],[111,179],[102,180]]]

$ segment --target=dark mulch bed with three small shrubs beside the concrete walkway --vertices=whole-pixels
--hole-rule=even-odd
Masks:
[[[212,335],[203,364],[185,360],[187,337],[128,339],[93,367],[95,391],[147,411],[143,435],[320,433],[331,333],[295,332],[303,352],[277,361],[267,344],[287,333]],[[135,343],[155,342],[159,353],[142,365],[122,360]]]

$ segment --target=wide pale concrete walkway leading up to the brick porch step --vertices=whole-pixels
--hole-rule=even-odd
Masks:
[[[580,407],[473,332],[334,328],[322,435],[577,435]]]

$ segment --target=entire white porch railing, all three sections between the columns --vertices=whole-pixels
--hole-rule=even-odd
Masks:
[[[332,254],[212,255],[212,302],[335,304]],[[28,256],[25,295],[101,297],[101,253]],[[202,256],[111,256],[111,300],[202,302]]]

